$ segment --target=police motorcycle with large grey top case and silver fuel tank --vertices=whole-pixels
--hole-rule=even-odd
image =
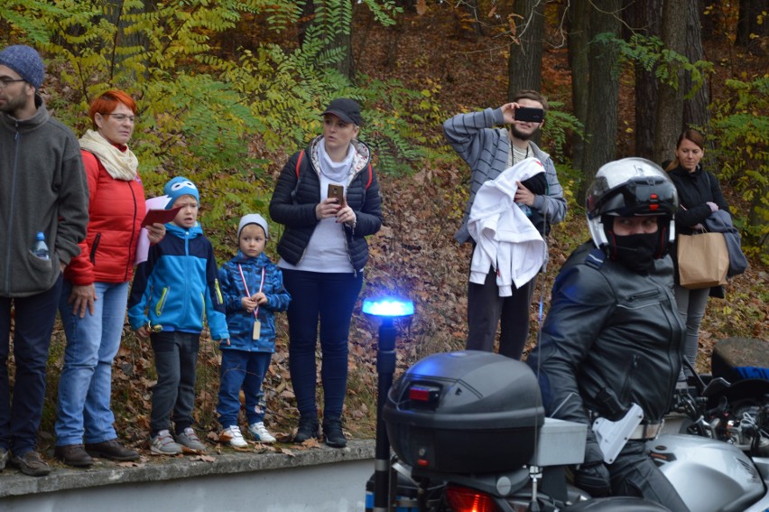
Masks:
[[[663,433],[649,442],[653,460],[692,511],[769,508],[769,459],[741,450],[763,447],[747,418],[762,425],[769,405],[746,405],[735,399],[741,394],[740,386],[725,386],[718,378],[703,383],[699,396],[679,403],[689,412],[684,433]],[[739,424],[732,419],[723,430],[722,423],[711,425],[710,415],[721,396],[743,414]],[[567,466],[582,461],[587,425],[545,418],[537,379],[520,361],[474,351],[424,358],[390,389],[383,416],[395,453],[392,510],[667,510],[641,498],[590,498],[567,482]],[[721,440],[726,433],[738,442]]]

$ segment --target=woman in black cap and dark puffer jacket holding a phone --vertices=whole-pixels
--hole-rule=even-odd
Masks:
[[[333,100],[323,112],[323,135],[292,155],[270,201],[271,217],[285,227],[278,266],[292,295],[289,366],[300,413],[294,442],[319,436],[315,347],[320,320],[323,434],[329,446],[347,445],[341,423],[347,338],[368,260],[365,237],[382,226],[371,151],[357,140],[362,123],[356,101]],[[342,187],[344,197],[329,197],[329,185]]]

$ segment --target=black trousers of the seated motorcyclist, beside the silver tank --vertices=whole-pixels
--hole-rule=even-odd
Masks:
[[[615,496],[645,498],[668,507],[671,512],[689,512],[670,480],[649,458],[645,442],[627,442],[616,461],[607,468]]]

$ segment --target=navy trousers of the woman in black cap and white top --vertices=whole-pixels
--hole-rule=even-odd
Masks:
[[[289,368],[296,405],[302,417],[317,417],[315,347],[320,321],[323,417],[340,418],[347,395],[347,341],[350,320],[363,275],[283,269],[291,293],[288,309]]]

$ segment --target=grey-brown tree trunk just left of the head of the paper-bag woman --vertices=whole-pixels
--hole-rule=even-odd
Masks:
[[[687,4],[697,0],[685,0]],[[662,8],[662,42],[665,48],[686,55],[687,8],[681,8],[681,0],[664,0]],[[654,130],[653,161],[662,163],[670,160],[675,142],[683,128],[683,72],[671,70],[678,79],[678,85],[660,85],[660,100],[657,102],[657,124]]]

